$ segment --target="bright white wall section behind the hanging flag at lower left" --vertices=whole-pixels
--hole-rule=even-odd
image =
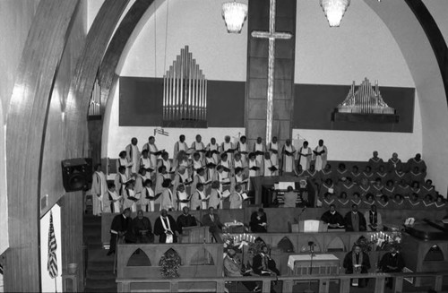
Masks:
[[[56,258],[57,258],[57,268],[58,275],[55,279],[51,279],[47,270],[48,262],[48,228],[50,226],[50,212],[40,219],[40,281],[42,284],[42,292],[56,292],[55,286],[57,286],[57,292],[62,292],[62,247],[61,247],[61,208],[55,204],[51,208],[53,212],[53,227],[55,228],[56,235]]]

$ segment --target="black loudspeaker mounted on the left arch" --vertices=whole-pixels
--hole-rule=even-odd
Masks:
[[[86,189],[91,179],[91,163],[86,159],[65,159],[61,162],[62,180],[65,191]]]

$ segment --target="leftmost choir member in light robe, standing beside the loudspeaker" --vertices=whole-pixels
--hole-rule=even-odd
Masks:
[[[93,215],[100,216],[101,212],[105,211],[104,202],[108,201],[108,181],[101,171],[101,164],[95,166],[91,183],[91,197]],[[110,212],[109,206],[106,212]]]

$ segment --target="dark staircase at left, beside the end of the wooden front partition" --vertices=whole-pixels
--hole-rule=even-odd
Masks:
[[[101,218],[85,214],[84,243],[87,244],[87,271],[84,292],[116,292],[114,255],[107,256],[101,245]]]

